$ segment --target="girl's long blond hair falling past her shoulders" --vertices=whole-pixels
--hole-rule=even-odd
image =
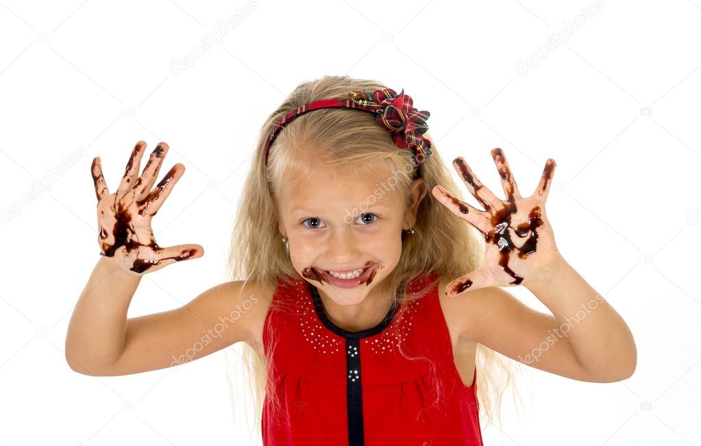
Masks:
[[[367,112],[342,108],[319,109],[299,116],[287,123],[278,134],[270,148],[267,165],[265,163],[264,147],[268,135],[275,123],[288,112],[316,100],[346,98],[353,90],[372,92],[383,88],[386,86],[379,81],[323,76],[300,83],[268,116],[260,130],[233,224],[227,263],[231,281],[266,283],[274,289],[278,281],[291,282],[301,278],[280,241],[278,231],[275,203],[283,185],[289,187],[297,181],[321,179],[327,169],[342,168],[355,175],[392,175],[397,190],[409,199],[416,163],[413,154],[409,150],[398,149],[387,131],[378,126],[374,116]],[[433,142],[429,133],[425,135]],[[463,196],[462,188],[454,183],[435,142],[432,151],[433,154],[421,167],[421,176],[426,181],[428,191],[441,184],[454,196]],[[312,158],[317,162],[305,161]],[[411,236],[402,235],[400,261],[381,283],[383,290],[395,291],[393,295],[397,295],[402,302],[419,297],[426,289],[433,287],[441,276],[457,278],[477,269],[484,260],[482,235],[438,203],[430,192],[418,207],[413,229]],[[431,273],[437,273],[435,281],[413,294],[406,292],[404,284]],[[402,292],[397,293],[397,290]],[[271,398],[271,403],[275,403],[274,392],[268,388],[273,364],[270,358],[260,358],[251,346],[243,342],[236,347],[238,349],[234,351],[227,349],[227,355],[231,354],[233,358],[231,363],[235,364],[229,370],[230,386],[232,375],[240,374],[243,370],[250,387],[231,386],[233,405],[250,400],[250,391],[253,390],[254,431],[259,432],[266,394]],[[505,356],[477,344],[480,418],[491,422],[495,415],[498,417],[502,393],[510,384],[513,374],[511,366],[512,361]]]

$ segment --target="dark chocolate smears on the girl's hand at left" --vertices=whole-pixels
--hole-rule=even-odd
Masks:
[[[136,160],[137,153],[139,151],[139,144],[137,144],[134,149],[132,149],[131,156],[129,158],[129,161],[127,163],[127,166],[125,168],[124,175],[128,175],[130,171],[133,168],[134,162]],[[158,144],[156,146],[156,149],[154,149],[154,157],[156,158],[161,158],[163,156],[163,147],[161,147],[161,144]],[[151,160],[149,159],[149,163],[151,163]],[[95,161],[93,161],[93,166],[95,165]],[[148,168],[148,164],[147,164]],[[147,168],[144,168],[144,170],[147,170]],[[173,177],[175,177],[175,172],[176,168],[175,166],[171,168],[168,173],[163,177],[163,180],[161,182],[158,182],[156,185],[157,189],[154,189],[154,191],[151,191],[149,195],[147,195],[143,200],[137,201],[137,205],[139,208],[139,215],[144,215],[144,212],[148,210],[153,203],[155,203],[158,198],[161,196],[161,193],[163,192],[163,189],[170,184],[172,181]],[[95,187],[97,188],[97,180],[99,177],[95,177],[94,169],[93,169],[93,182],[95,183]],[[129,182],[129,179],[127,180]],[[135,184],[135,187],[141,183],[141,177],[139,177],[139,181]],[[99,197],[98,197],[99,198]],[[136,236],[136,231],[132,225],[132,215],[130,214],[128,210],[128,206],[124,205],[119,200],[115,200],[114,203],[115,207],[115,215],[114,217],[116,218],[116,222],[114,223],[114,227],[112,227],[111,234],[114,236],[114,243],[112,245],[107,242],[107,230],[104,229],[104,227],[100,227],[100,245],[102,247],[102,251],[100,252],[100,255],[103,255],[104,257],[114,257],[114,253],[116,250],[121,248],[122,246],[125,247],[126,252],[137,252],[139,250],[140,246],[147,246],[151,248],[156,254],[158,252],[163,251],[163,248],[159,247],[158,244],[156,244],[156,240],[154,238],[151,238],[148,244],[141,243]],[[154,212],[151,216],[156,215],[156,212]],[[134,260],[132,267],[130,268],[130,271],[134,271],[135,273],[143,273],[144,271],[148,271],[149,269],[153,268],[154,266],[160,264],[161,262],[164,262],[165,260],[169,259],[174,259],[176,262],[179,262],[181,260],[189,259],[189,257],[195,255],[197,250],[191,249],[191,250],[184,250],[179,253],[179,255],[174,256],[174,257],[164,257],[163,259],[160,260],[147,260],[147,259],[139,259],[138,257]]]

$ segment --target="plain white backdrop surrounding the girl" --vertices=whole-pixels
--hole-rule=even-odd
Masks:
[[[261,123],[324,74],[404,88],[430,111],[444,159],[464,156],[493,190],[490,149],[505,150],[524,194],[555,158],[558,248],[634,333],[638,366],[625,381],[523,372],[525,412],[505,398],[486,445],[701,444],[701,1],[661,5],[4,1],[0,445],[248,444],[224,351],[126,377],[65,363],[68,321],[99,259],[90,163],[102,158],[112,190],[137,140],[149,152],[170,144],[163,173],[186,166],[154,231],[160,245],[200,243],[205,257],[144,276],[129,316],[174,309],[225,280]],[[538,67],[517,72],[534,54]]]

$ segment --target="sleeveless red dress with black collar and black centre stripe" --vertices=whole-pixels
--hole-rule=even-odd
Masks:
[[[263,343],[266,355],[272,350],[268,393],[279,405],[266,394],[263,445],[482,446],[477,370],[465,386],[437,288],[348,332],[326,317],[311,283],[278,281]],[[399,345],[418,358],[404,358]]]

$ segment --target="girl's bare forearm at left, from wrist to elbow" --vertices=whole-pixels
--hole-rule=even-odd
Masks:
[[[76,371],[97,372],[121,356],[127,311],[141,275],[100,257],[83,289],[66,335],[66,359]]]

